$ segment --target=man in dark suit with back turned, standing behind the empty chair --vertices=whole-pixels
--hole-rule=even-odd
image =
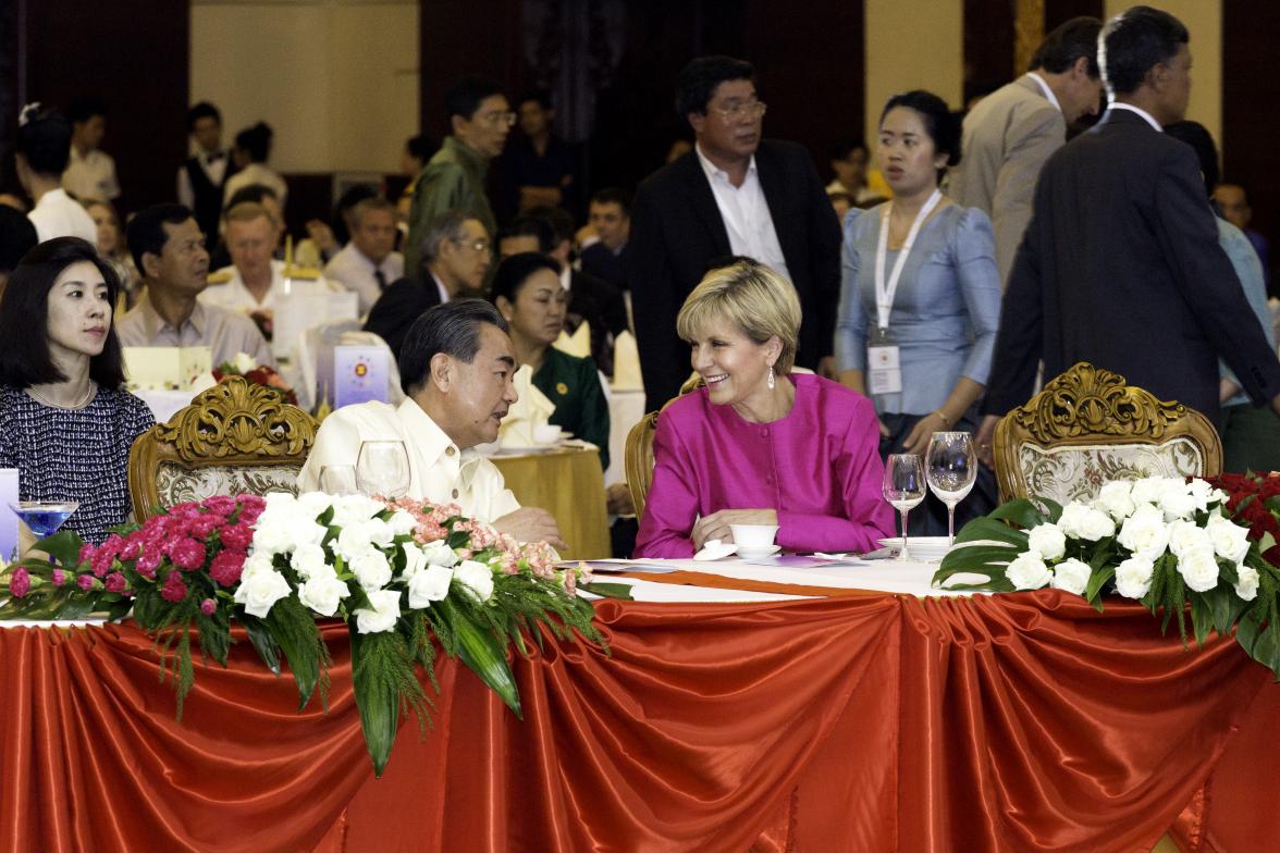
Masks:
[[[1162,133],[1187,111],[1188,42],[1176,18],[1146,6],[1103,28],[1111,106],[1041,175],[1000,317],[980,450],[997,416],[1027,402],[1041,358],[1046,377],[1088,361],[1216,419],[1221,356],[1254,404],[1280,412],[1280,363],[1219,248],[1196,153]]]

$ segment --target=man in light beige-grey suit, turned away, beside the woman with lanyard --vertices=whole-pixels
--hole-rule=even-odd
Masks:
[[[1069,124],[1098,111],[1101,29],[1097,18],[1061,24],[1032,56],[1029,72],[982,98],[964,119],[964,156],[951,170],[947,194],[991,216],[1006,288],[1044,161],[1066,142]]]

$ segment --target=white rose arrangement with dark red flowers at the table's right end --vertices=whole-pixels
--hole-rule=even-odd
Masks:
[[[1197,643],[1210,630],[1225,637],[1235,629],[1245,651],[1280,677],[1277,483],[1235,474],[1147,477],[1105,483],[1092,501],[1066,506],[1014,500],[960,531],[933,584],[1052,587],[1084,596],[1098,610],[1102,595],[1115,592],[1152,614],[1162,609],[1162,629],[1176,619],[1184,643],[1189,604]],[[948,584],[959,573],[988,579]]]

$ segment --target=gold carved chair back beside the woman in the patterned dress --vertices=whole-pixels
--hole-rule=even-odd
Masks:
[[[202,391],[129,450],[129,492],[140,522],[212,495],[297,491],[316,423],[274,391],[232,376]]]

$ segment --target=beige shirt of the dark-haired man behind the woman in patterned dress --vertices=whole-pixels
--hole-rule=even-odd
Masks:
[[[196,303],[195,311],[174,329],[143,293],[138,304],[115,324],[122,347],[209,347],[216,367],[238,353],[252,356],[259,364],[275,367],[271,350],[253,321],[242,315]]]

